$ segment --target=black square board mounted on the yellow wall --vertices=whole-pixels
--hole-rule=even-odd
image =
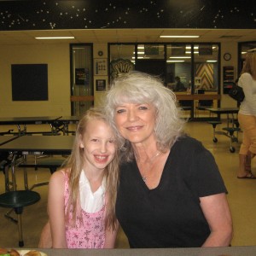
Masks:
[[[13,101],[48,101],[48,65],[12,64]]]

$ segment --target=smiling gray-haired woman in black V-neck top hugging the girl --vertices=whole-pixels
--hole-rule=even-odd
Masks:
[[[106,112],[122,145],[116,214],[130,246],[229,246],[224,181],[212,154],[183,133],[172,91],[126,74],[113,81]]]

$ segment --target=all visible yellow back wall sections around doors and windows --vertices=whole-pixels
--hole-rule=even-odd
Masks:
[[[98,51],[103,55],[99,56]],[[230,52],[230,61],[224,61],[223,55]],[[47,116],[70,115],[70,67],[69,44],[35,44],[35,45],[7,45],[0,49],[0,116]],[[108,59],[108,44],[94,44],[93,58]],[[47,63],[49,75],[49,101],[46,102],[12,102],[11,94],[11,64]],[[236,102],[223,94],[222,70],[223,66],[234,66],[237,77],[237,45],[221,44],[221,107],[236,107]],[[95,76],[96,79],[106,79],[108,76]],[[95,106],[102,104],[104,92],[94,88]]]

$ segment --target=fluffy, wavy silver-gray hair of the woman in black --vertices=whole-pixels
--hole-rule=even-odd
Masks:
[[[120,149],[125,151],[125,160],[133,158],[133,150],[115,124],[116,108],[124,103],[153,104],[156,111],[154,131],[160,150],[172,147],[177,138],[183,135],[185,121],[180,118],[176,96],[157,77],[138,72],[121,75],[113,80],[105,101],[108,122],[118,135]]]

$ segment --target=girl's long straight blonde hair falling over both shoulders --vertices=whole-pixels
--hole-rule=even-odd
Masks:
[[[79,178],[84,168],[84,153],[83,148],[80,148],[80,137],[84,136],[86,127],[90,121],[100,119],[108,124],[105,118],[105,113],[101,108],[90,108],[84,116],[79,120],[79,124],[76,130],[76,135],[73,143],[72,154],[64,164],[66,172],[69,176],[69,201],[67,204],[66,219],[68,221],[68,214],[72,212],[72,224],[74,225],[76,219],[81,216],[81,207],[79,204]],[[114,229],[116,227],[115,218],[115,201],[116,192],[119,179],[119,162],[118,162],[118,151],[114,155],[111,163],[106,166],[105,177],[106,177],[106,194],[108,195],[107,209],[105,214],[105,226],[108,229]],[[80,218],[80,217],[79,217]]]

